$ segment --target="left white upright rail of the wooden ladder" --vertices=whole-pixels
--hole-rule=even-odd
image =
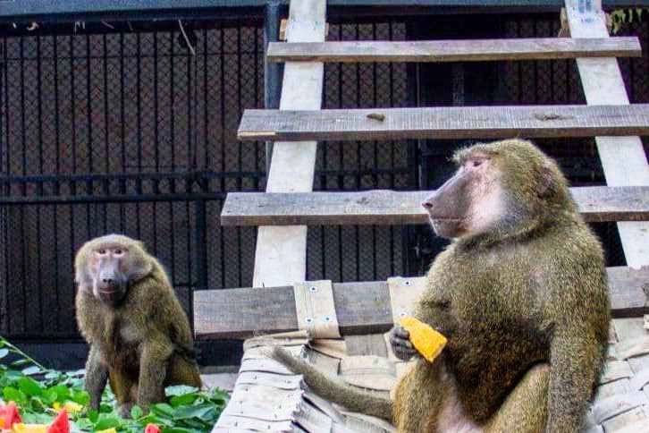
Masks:
[[[287,24],[290,42],[325,40],[325,0],[294,0]],[[281,110],[316,110],[322,104],[324,65],[284,66]],[[268,192],[304,192],[313,188],[316,141],[275,142]],[[259,227],[253,285],[293,284],[307,275],[307,227]]]

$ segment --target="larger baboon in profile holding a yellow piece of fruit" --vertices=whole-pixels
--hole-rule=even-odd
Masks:
[[[559,167],[530,142],[476,144],[453,159],[456,174],[423,203],[453,241],[415,314],[448,338],[442,354],[418,357],[393,400],[270,354],[316,394],[402,432],[577,432],[608,341],[602,247]],[[416,355],[404,328],[390,336],[400,359]]]

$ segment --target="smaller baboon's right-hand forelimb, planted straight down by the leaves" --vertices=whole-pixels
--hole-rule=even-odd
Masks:
[[[166,335],[145,339],[140,347],[138,405],[147,409],[150,403],[164,400],[164,378],[173,353],[173,344]]]

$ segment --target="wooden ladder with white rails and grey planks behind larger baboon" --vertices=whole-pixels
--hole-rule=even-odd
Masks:
[[[222,213],[223,225],[259,225],[253,285],[274,289],[258,299],[246,292],[253,289],[197,293],[198,336],[247,336],[295,327],[288,286],[306,278],[307,225],[426,222],[419,206],[426,191],[312,192],[316,140],[594,136],[607,186],[571,192],[587,221],[617,222],[628,267],[609,269],[615,276],[613,313],[637,314],[644,302],[638,281],[646,281],[647,268],[633,268],[649,264],[649,165],[636,135],[649,134],[649,105],[628,104],[614,57],[640,55],[640,47],[636,38],[609,38],[599,0],[566,0],[565,5],[571,38],[325,42],[325,0],[292,1],[288,42],[271,43],[267,53],[271,61],[286,62],[280,109],[246,110],[239,130],[240,140],[275,140],[266,191],[230,193]],[[577,59],[586,106],[320,109],[325,62],[558,58]],[[383,290],[376,287],[385,283],[359,284],[345,289]],[[625,290],[634,294],[625,298]],[[247,311],[245,317],[237,318],[239,311],[219,314],[232,306],[232,299],[239,311]],[[339,311],[346,333],[382,330],[391,323],[380,311],[372,315],[336,302],[339,308],[348,309]],[[363,327],[363,320],[373,326]]]

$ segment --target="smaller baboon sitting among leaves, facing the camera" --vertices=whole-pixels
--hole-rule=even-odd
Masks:
[[[77,321],[90,345],[86,390],[97,410],[106,380],[129,417],[164,401],[164,387],[200,386],[190,322],[163,267],[142,242],[108,234],[74,259]]]

